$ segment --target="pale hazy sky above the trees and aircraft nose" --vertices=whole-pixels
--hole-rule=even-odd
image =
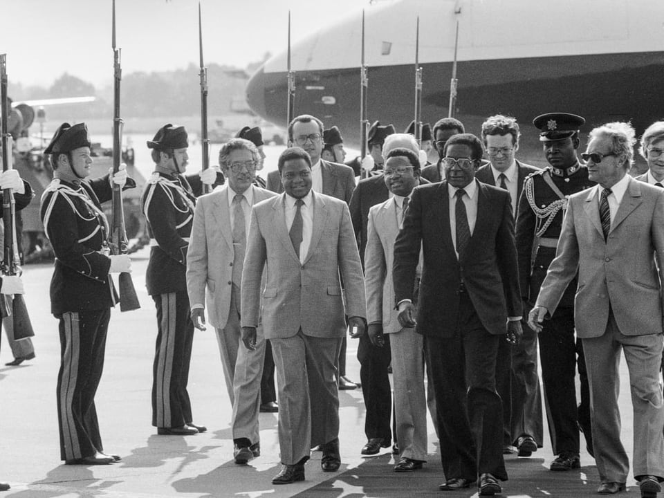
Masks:
[[[245,68],[369,0],[201,0],[205,64]],[[0,0],[0,53],[10,82],[50,86],[62,73],[111,82],[111,0]],[[199,64],[199,0],[116,0],[122,72]],[[359,15],[359,14],[358,14]]]

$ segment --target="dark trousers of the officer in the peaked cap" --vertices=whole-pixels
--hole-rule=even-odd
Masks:
[[[553,454],[579,454],[579,423],[590,439],[590,396],[581,341],[574,337],[574,310],[561,308],[539,334],[542,383]],[[576,404],[576,369],[581,405]]]

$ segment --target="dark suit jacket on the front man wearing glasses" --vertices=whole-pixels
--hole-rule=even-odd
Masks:
[[[522,315],[508,192],[477,181],[477,221],[468,248],[457,259],[450,230],[448,182],[415,187],[394,243],[396,303],[413,299],[423,250],[416,331],[452,337],[459,317],[461,279],[483,326],[504,334],[508,316]]]

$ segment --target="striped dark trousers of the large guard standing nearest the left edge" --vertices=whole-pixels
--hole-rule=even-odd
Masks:
[[[63,313],[59,317],[60,369],[56,392],[62,460],[92,457],[104,450],[95,393],[104,369],[110,318],[110,308]]]

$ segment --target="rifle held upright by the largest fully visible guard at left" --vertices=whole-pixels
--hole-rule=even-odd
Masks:
[[[122,118],[120,118],[120,48],[116,47],[116,0],[113,0],[113,174],[120,171],[122,160]],[[113,227],[111,228],[111,248],[113,253],[127,254],[127,230],[124,228],[124,210],[122,206],[122,187],[113,183]],[[120,311],[131,311],[140,308],[136,289],[129,273],[120,273]]]

